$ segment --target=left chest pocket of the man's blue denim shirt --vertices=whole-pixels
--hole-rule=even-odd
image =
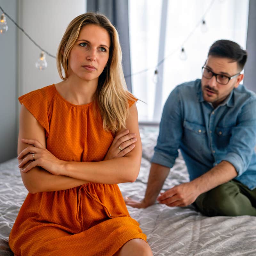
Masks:
[[[188,121],[183,122],[183,143],[193,151],[202,151],[206,144],[206,129],[204,125]]]

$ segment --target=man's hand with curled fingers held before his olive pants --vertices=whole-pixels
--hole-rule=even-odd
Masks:
[[[167,206],[187,206],[195,202],[201,193],[192,182],[186,182],[160,193],[157,197],[159,204]]]

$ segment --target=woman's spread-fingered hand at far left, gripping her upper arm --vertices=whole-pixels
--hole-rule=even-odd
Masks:
[[[47,150],[38,140],[33,139],[21,139],[22,142],[30,144],[27,148],[23,149],[18,156],[18,159],[22,159],[19,167],[22,168],[25,164],[30,162],[22,172],[28,172],[36,166],[41,166],[46,171],[51,172],[54,175],[60,175],[61,165],[64,161],[53,156],[52,153]]]

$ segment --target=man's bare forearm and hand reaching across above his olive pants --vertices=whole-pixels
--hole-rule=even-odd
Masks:
[[[186,182],[165,191],[157,198],[160,204],[187,206],[195,202],[204,192],[211,190],[237,176],[235,167],[227,161],[213,167],[195,180]]]

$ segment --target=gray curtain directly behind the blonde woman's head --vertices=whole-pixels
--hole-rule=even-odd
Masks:
[[[122,64],[128,90],[132,92],[128,0],[87,0],[87,12],[105,14],[117,28],[122,47]]]

